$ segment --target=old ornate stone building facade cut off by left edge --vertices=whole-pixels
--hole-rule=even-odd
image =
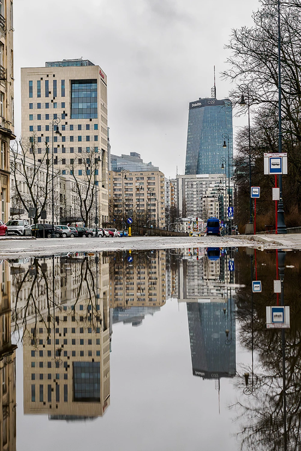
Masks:
[[[0,220],[9,218],[9,143],[14,136],[13,2],[0,0]]]

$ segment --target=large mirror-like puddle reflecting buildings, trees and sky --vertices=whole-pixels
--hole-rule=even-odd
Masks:
[[[70,253],[0,270],[4,450],[301,449],[299,251]],[[266,327],[277,279],[285,342]]]

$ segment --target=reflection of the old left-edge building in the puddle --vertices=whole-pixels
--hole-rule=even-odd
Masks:
[[[0,449],[16,449],[16,345],[11,343],[8,263],[0,261]]]

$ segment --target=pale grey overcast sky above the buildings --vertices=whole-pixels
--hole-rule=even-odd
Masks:
[[[20,68],[91,60],[108,77],[111,152],[138,152],[167,177],[184,173],[188,106],[230,83],[223,49],[232,28],[252,25],[258,0],[14,0],[15,133]],[[234,133],[246,118],[234,118]]]

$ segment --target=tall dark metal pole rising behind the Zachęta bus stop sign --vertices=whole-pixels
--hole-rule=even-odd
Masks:
[[[282,117],[281,117],[281,32],[280,32],[280,0],[278,0],[278,152],[282,153]],[[287,233],[284,222],[282,200],[282,174],[279,174],[280,199],[278,202],[278,233]]]

